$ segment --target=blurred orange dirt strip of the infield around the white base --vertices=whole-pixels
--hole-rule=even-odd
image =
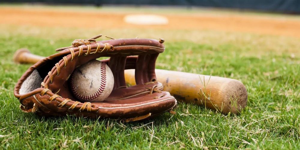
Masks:
[[[129,13],[113,13],[99,11],[50,10],[32,7],[5,7],[0,9],[0,24],[33,25],[47,27],[78,28],[141,28],[141,29],[183,29],[183,30],[219,30],[247,32],[267,35],[283,35],[300,37],[300,19],[289,17],[266,17],[259,15],[232,14],[171,14],[167,25],[141,26],[131,25],[123,21]],[[130,13],[132,14],[132,13]]]

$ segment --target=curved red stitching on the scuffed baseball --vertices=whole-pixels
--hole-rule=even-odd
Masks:
[[[100,87],[98,88],[98,91],[96,91],[93,95],[88,95],[88,96],[80,95],[75,90],[74,80],[73,80],[74,76],[71,77],[71,89],[72,89],[72,91],[74,91],[74,94],[78,98],[88,101],[88,100],[93,100],[95,98],[98,98],[103,93],[103,91],[106,87],[106,64],[104,62],[101,62],[100,69],[101,69],[101,84],[100,84]]]

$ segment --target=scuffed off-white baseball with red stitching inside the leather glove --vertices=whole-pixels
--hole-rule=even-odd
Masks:
[[[113,73],[106,63],[91,60],[77,67],[71,75],[70,88],[81,101],[101,102],[112,92]]]

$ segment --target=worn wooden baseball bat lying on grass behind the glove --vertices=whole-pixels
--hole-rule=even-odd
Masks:
[[[19,49],[14,55],[17,63],[36,63],[44,57],[34,55],[28,49]],[[224,114],[239,113],[247,105],[247,90],[236,79],[207,76],[195,73],[155,69],[158,82],[164,91],[179,101],[198,104]],[[125,80],[135,85],[134,70],[125,70]]]

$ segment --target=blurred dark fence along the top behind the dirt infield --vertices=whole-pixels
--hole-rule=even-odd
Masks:
[[[0,2],[45,4],[126,4],[126,5],[173,5],[260,10],[280,13],[300,13],[300,0],[0,0]]]

